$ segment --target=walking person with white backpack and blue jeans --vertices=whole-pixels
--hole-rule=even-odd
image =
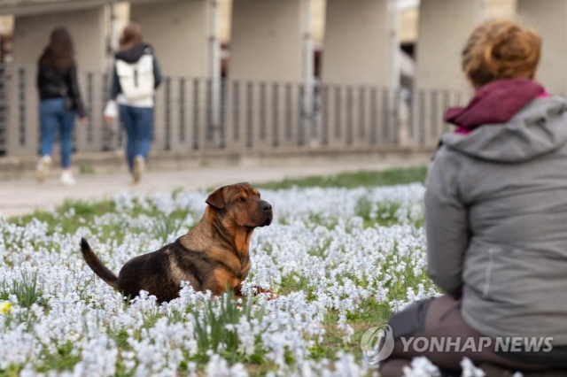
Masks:
[[[130,23],[120,35],[120,49],[114,56],[111,100],[105,120],[118,115],[126,130],[126,158],[134,183],[144,173],[153,137],[153,96],[161,82],[158,59],[144,42],[142,27]]]

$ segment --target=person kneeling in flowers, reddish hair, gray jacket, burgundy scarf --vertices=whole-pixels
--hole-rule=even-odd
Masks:
[[[428,273],[443,296],[392,316],[383,377],[418,356],[444,375],[461,375],[464,357],[491,376],[567,373],[567,104],[535,80],[540,50],[540,35],[505,20],[462,50],[475,95],[447,110],[456,129],[425,193]]]

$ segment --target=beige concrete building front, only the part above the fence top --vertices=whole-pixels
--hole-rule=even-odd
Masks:
[[[466,35],[484,19],[503,17],[540,31],[542,66],[549,68],[541,80],[566,89],[567,79],[555,80],[554,69],[564,61],[564,51],[556,48],[567,35],[557,27],[565,23],[565,12],[556,12],[565,8],[564,0],[549,0],[553,6],[546,7],[535,0],[354,1],[4,0],[0,14],[15,19],[0,22],[0,33],[13,28],[14,63],[33,65],[46,31],[65,25],[82,68],[96,71],[105,69],[124,23],[136,19],[172,75],[214,76],[219,46],[230,44],[234,78],[305,81],[313,68],[311,52],[322,48],[324,81],[379,85],[397,84],[397,46],[416,43],[421,88],[462,88],[458,56]]]

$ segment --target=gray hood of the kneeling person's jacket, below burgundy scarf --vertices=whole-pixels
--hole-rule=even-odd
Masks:
[[[486,123],[468,135],[445,134],[441,142],[473,158],[516,163],[537,158],[567,142],[567,104],[538,97],[503,123]]]

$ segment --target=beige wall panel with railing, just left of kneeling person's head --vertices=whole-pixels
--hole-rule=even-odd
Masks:
[[[535,2],[534,2],[535,3]],[[513,0],[422,0],[412,94],[412,142],[435,146],[451,126],[447,107],[465,105],[472,88],[462,73],[461,52],[470,33],[486,19],[514,19]]]

